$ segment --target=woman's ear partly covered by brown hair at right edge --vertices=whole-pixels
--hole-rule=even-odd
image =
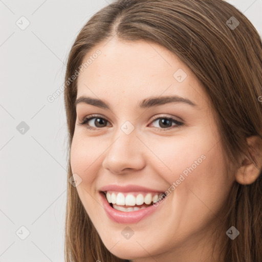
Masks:
[[[252,136],[247,138],[247,143],[251,158],[244,156],[236,172],[236,181],[242,185],[255,182],[259,177],[262,166],[262,140],[257,136]]]

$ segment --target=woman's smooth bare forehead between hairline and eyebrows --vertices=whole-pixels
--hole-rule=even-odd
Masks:
[[[77,97],[137,103],[149,96],[179,95],[201,107],[208,99],[187,65],[157,43],[113,38],[94,47],[83,63],[88,59],[89,65],[78,76]]]

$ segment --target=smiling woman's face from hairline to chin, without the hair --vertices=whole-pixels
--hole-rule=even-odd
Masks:
[[[71,166],[104,245],[135,261],[207,258],[234,178],[203,87],[156,43],[112,39],[88,59]]]

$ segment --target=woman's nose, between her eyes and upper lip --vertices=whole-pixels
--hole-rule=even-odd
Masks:
[[[120,174],[132,169],[140,170],[145,165],[143,144],[137,138],[135,130],[126,135],[120,129],[106,150],[103,168]]]

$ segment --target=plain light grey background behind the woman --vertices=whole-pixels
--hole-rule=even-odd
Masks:
[[[47,98],[63,85],[77,33],[111,2],[0,0],[1,262],[64,261],[67,127],[63,94]],[[262,36],[262,0],[228,2]]]

